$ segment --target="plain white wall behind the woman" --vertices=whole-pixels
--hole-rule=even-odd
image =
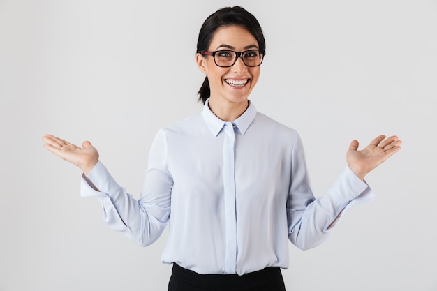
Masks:
[[[251,100],[302,135],[317,196],[350,140],[399,135],[318,248],[290,244],[288,290],[437,290],[437,1],[0,0],[0,290],[166,290],[165,234],[140,248],[79,195],[80,170],[43,149],[91,140],[137,196],[158,128],[201,110],[205,17],[242,5],[267,40]]]

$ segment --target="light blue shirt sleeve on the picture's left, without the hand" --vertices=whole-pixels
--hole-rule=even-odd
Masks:
[[[103,207],[105,223],[127,237],[147,246],[161,236],[170,218],[173,179],[167,167],[167,142],[160,130],[149,152],[145,184],[139,200],[112,178],[100,161],[82,174],[81,195],[95,196]]]

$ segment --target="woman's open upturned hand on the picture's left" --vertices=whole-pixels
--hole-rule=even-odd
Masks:
[[[80,167],[85,175],[88,175],[98,162],[98,151],[91,145],[91,142],[83,142],[82,147],[77,147],[75,144],[53,135],[44,135],[43,141],[46,149],[59,156],[59,158]]]

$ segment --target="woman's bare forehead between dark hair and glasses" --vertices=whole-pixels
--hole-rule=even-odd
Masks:
[[[255,45],[258,47],[258,41],[244,27],[232,25],[229,27],[221,27],[216,30],[212,37],[209,50],[216,50],[221,45],[226,47],[234,47],[235,50],[243,50],[244,47]]]

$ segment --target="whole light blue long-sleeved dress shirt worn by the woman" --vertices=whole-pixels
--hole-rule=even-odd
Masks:
[[[105,222],[141,246],[169,224],[163,262],[199,274],[240,275],[286,269],[288,240],[302,249],[318,246],[342,210],[373,197],[346,167],[316,200],[295,130],[252,103],[225,122],[208,101],[199,114],[158,131],[139,200],[101,162],[82,176],[81,193],[98,197]]]

